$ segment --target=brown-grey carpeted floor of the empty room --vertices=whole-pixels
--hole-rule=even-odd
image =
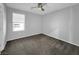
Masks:
[[[79,47],[44,34],[7,42],[2,55],[77,55]]]

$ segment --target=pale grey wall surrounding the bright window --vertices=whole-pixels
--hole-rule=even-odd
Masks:
[[[6,7],[7,12],[7,40],[18,39],[22,37],[27,37],[35,34],[41,33],[41,16],[37,14],[32,14],[29,12],[12,9]],[[25,30],[24,31],[12,31],[12,13],[21,13],[25,17]]]

